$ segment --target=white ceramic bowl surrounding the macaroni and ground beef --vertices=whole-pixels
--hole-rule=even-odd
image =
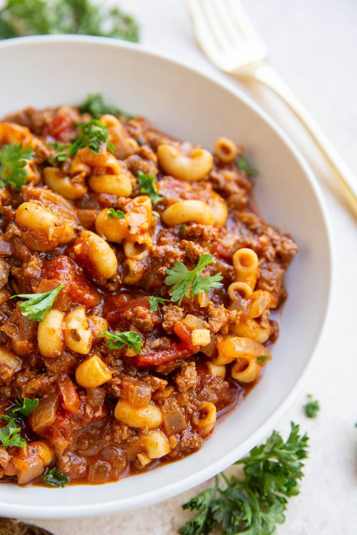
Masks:
[[[22,37],[0,44],[0,72],[0,117],[28,105],[78,104],[100,91],[108,103],[148,117],[179,139],[209,149],[222,135],[244,143],[248,161],[259,169],[255,195],[263,216],[300,247],[286,276],[288,300],[272,362],[199,452],[101,486],[0,485],[0,516],[104,515],[164,500],[246,454],[301,392],[330,299],[331,246],[320,189],[291,141],[236,88],[140,45],[86,36]]]

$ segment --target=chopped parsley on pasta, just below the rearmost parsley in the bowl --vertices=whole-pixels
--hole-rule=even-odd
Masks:
[[[115,146],[108,141],[108,127],[97,119],[92,119],[88,123],[77,125],[80,129],[80,134],[77,134],[70,143],[47,143],[50,147],[58,150],[57,154],[51,156],[49,162],[51,165],[58,162],[64,162],[67,156],[72,158],[77,154],[79,149],[87,147],[95,154],[99,154],[99,149],[102,143],[107,142],[108,149],[112,152]]]

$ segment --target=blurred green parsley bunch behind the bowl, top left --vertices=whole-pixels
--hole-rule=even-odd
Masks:
[[[22,35],[102,35],[139,41],[136,21],[119,9],[88,0],[7,0],[0,10],[0,39]]]

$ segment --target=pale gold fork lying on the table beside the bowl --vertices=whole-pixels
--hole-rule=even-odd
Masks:
[[[197,40],[220,70],[258,80],[274,90],[306,127],[335,171],[357,216],[357,178],[315,119],[265,59],[267,48],[239,0],[187,0]]]

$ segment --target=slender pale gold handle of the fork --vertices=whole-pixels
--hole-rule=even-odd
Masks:
[[[251,73],[236,73],[239,77],[252,78],[264,83],[270,89],[274,90],[294,114],[300,119],[301,123],[306,127],[310,135],[313,137],[317,146],[321,149],[324,156],[328,160],[332,169],[336,172],[337,177],[340,179],[340,184],[343,187],[347,200],[350,204],[354,215],[357,216],[357,177],[353,173],[352,169],[346,164],[343,157],[333,147],[332,143],[326,137],[320,126],[316,123],[315,119],[310,113],[303,107],[301,102],[288,88],[286,83],[279,77],[279,75],[269,66],[262,65],[257,67],[254,72]]]

